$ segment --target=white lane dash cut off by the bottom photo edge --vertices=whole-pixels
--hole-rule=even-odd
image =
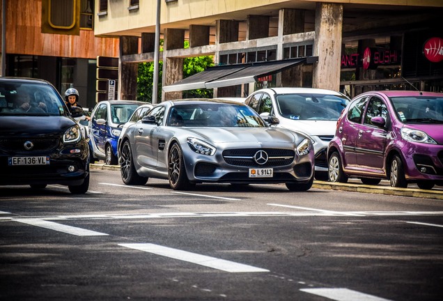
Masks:
[[[376,297],[374,295],[352,291],[348,288],[302,288],[300,291],[320,295],[336,301],[389,301],[388,299]]]

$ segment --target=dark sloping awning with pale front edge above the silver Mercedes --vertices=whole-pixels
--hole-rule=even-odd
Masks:
[[[185,91],[197,88],[219,88],[256,82],[260,77],[281,72],[306,59],[288,59],[283,61],[270,61],[260,63],[246,63],[237,65],[222,65],[210,67],[202,72],[182,79],[169,86],[164,86],[163,91]]]

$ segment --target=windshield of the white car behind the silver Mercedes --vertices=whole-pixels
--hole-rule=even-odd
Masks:
[[[348,105],[344,96],[329,94],[281,94],[276,100],[281,116],[294,120],[336,121]]]

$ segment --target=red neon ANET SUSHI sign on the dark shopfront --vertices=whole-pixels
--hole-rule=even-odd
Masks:
[[[363,67],[364,69],[375,69],[379,65],[398,64],[399,60],[400,57],[397,50],[367,47],[364,49],[362,58],[358,53],[341,56],[341,68]]]

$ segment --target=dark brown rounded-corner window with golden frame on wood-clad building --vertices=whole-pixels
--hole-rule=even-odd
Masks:
[[[75,26],[75,0],[48,0],[48,23],[56,29]]]

